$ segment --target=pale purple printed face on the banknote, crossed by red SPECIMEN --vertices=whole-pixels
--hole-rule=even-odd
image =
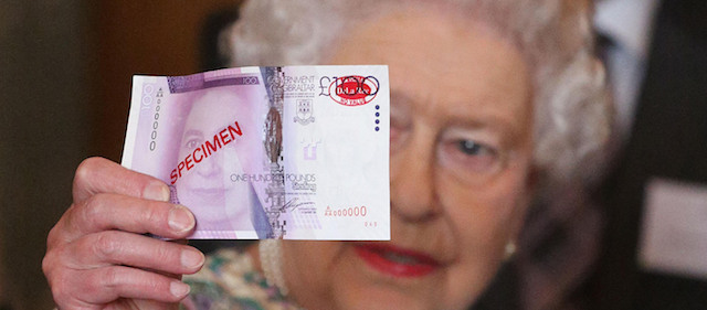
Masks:
[[[239,110],[241,101],[230,92],[210,89],[194,101],[184,122],[178,158],[189,158],[193,165],[189,171],[184,169],[182,178],[175,185],[179,202],[198,215],[199,225],[208,225],[209,229],[252,228],[247,213],[250,185],[231,180],[232,173],[243,173],[243,153],[247,150],[245,145],[252,140],[250,138],[256,138],[246,125],[251,116]],[[222,132],[228,126],[235,128],[235,121],[242,136],[229,130]],[[225,139],[214,138],[220,133],[225,133]],[[203,146],[205,141],[217,150]],[[217,146],[219,143],[220,147]]]

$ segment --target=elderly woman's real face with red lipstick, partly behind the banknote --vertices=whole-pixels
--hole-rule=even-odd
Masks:
[[[308,309],[464,309],[483,291],[530,197],[531,89],[519,52],[435,13],[346,33],[333,64],[388,64],[391,242],[286,242]]]

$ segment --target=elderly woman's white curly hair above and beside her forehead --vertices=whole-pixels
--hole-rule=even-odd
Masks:
[[[534,164],[541,188],[598,179],[612,110],[594,56],[588,0],[249,1],[224,33],[225,51],[235,66],[323,64],[341,30],[411,7],[484,24],[524,55],[531,71]]]

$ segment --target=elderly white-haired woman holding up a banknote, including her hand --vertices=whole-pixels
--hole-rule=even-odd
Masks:
[[[251,1],[235,65],[388,64],[392,239],[261,242],[205,259],[158,180],[80,165],[44,271],[61,309],[465,309],[541,193],[608,135],[585,1]],[[201,271],[199,271],[201,269]],[[184,280],[180,275],[194,274]],[[184,299],[188,295],[189,298]]]

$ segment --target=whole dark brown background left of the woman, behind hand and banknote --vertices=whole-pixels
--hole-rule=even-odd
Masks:
[[[119,161],[131,76],[219,66],[235,0],[0,0],[0,309],[52,309],[45,238],[76,165]]]

